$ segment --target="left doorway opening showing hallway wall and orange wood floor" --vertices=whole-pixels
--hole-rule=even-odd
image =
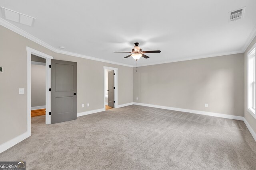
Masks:
[[[46,59],[31,54],[31,117],[45,115]]]

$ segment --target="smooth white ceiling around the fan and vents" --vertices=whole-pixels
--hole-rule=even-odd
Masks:
[[[256,0],[0,0],[0,6],[36,18],[33,27],[6,20],[56,49],[117,63],[135,42],[138,66],[241,53],[255,35]],[[244,18],[228,12],[246,7]],[[2,18],[2,14],[0,14]],[[61,49],[60,49],[61,50]]]

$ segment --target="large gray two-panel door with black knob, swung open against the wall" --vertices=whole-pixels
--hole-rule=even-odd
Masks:
[[[51,124],[76,117],[76,63],[51,60]]]

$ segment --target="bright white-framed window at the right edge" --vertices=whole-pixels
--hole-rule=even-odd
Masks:
[[[255,70],[255,51],[256,51],[256,44],[254,45],[254,47],[252,47],[252,49],[248,52],[248,106],[247,106],[247,110],[256,118],[256,114],[255,114],[255,95],[256,95],[256,91],[255,91],[255,78],[256,78],[256,70]]]

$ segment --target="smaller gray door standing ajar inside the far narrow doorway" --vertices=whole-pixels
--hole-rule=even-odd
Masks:
[[[108,72],[108,106],[115,107],[114,70]]]

